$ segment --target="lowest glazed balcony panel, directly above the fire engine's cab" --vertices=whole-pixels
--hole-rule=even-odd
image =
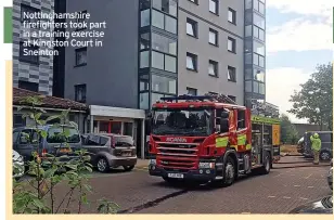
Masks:
[[[177,80],[168,77],[152,75],[152,90],[175,94],[177,92]]]

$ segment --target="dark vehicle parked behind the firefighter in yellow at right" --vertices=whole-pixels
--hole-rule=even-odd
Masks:
[[[321,140],[320,159],[331,160],[333,158],[333,131],[308,131],[304,134],[304,153],[305,157],[313,157],[311,150],[310,137],[318,133]]]

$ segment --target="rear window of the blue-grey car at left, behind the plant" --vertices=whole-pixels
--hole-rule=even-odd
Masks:
[[[55,127],[48,130],[47,141],[48,143],[79,143],[80,134],[72,127]]]

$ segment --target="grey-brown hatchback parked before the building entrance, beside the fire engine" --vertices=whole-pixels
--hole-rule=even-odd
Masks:
[[[91,164],[100,172],[123,167],[130,171],[137,164],[137,150],[131,137],[113,133],[88,133],[82,135],[82,147],[91,153]]]

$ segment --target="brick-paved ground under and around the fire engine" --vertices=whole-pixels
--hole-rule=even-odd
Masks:
[[[293,165],[293,168],[291,168]],[[307,167],[305,167],[307,165]],[[301,157],[283,157],[269,174],[241,178],[229,187],[169,185],[147,173],[147,160],[139,160],[130,172],[93,173],[84,213],[95,213],[98,199],[115,202],[123,213],[287,213],[332,194],[327,164],[312,166]],[[56,187],[56,204],[67,187]],[[70,206],[73,211],[77,205]]]

